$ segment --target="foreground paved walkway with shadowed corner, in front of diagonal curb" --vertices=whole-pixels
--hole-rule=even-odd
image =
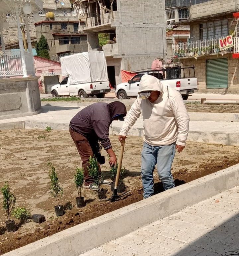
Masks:
[[[219,256],[228,251],[239,253],[239,186],[80,256]]]

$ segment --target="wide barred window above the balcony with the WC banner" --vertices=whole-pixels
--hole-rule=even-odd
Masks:
[[[200,40],[228,36],[228,19],[202,23],[199,30]]]

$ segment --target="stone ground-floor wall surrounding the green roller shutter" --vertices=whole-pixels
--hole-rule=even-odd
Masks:
[[[228,88],[227,89],[207,89],[206,88],[206,60],[218,59],[218,58],[228,58]],[[232,58],[232,54],[225,54],[223,56],[207,56],[199,57],[196,60],[193,58],[181,59],[181,63],[184,65],[196,65],[196,77],[198,78],[198,92],[207,93],[239,93],[239,70],[238,70],[238,60]],[[218,70],[220,72],[220,70]]]

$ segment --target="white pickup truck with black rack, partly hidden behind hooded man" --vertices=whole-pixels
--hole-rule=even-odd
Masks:
[[[171,66],[160,70],[146,70],[136,74],[128,82],[120,83],[116,86],[116,97],[119,99],[127,99],[137,97],[139,90],[139,82],[144,74],[157,77],[162,84],[179,91],[183,99],[188,99],[189,94],[198,90],[198,80],[195,77],[194,66]]]

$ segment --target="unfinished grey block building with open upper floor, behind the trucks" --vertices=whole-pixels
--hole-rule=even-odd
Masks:
[[[85,17],[88,50],[101,50],[99,33],[108,35],[105,52],[109,80],[121,82],[120,69],[150,68],[166,58],[164,0],[76,0]],[[101,34],[102,35],[102,34]]]

